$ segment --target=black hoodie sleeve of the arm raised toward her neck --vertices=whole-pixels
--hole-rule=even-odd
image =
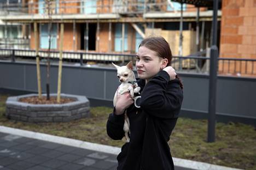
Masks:
[[[181,110],[183,92],[179,80],[170,80],[166,71],[160,71],[144,87],[141,108],[159,118],[177,118]]]

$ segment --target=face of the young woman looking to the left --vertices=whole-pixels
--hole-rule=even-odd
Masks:
[[[138,48],[136,58],[138,78],[145,79],[146,82],[158,74],[163,66],[163,59],[158,57],[155,51],[149,50],[145,46]]]

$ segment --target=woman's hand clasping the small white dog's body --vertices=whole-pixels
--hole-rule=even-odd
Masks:
[[[115,114],[123,114],[126,108],[133,104],[133,100],[130,96],[130,93],[124,93],[119,95],[117,93],[117,103],[115,104]]]

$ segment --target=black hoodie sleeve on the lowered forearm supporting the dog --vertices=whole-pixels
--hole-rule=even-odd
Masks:
[[[121,140],[124,137],[124,114],[116,115],[113,113],[109,114],[107,121],[107,133],[108,136],[114,140]]]

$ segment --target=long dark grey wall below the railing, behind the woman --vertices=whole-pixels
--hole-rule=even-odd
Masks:
[[[50,92],[57,92],[57,65],[50,69]],[[207,75],[181,74],[184,83],[184,101],[181,116],[206,118],[208,112]],[[0,62],[0,93],[37,92],[36,64]],[[45,92],[46,66],[41,65],[42,90]],[[85,95],[91,106],[112,107],[112,99],[119,82],[114,68],[89,68],[63,65],[61,92]],[[218,77],[217,120],[242,122],[256,126],[256,79]]]

